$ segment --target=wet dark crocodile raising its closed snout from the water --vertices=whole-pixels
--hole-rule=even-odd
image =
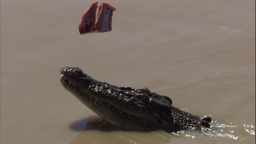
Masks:
[[[120,128],[134,130],[165,130],[210,128],[210,117],[199,118],[172,106],[168,96],[151,92],[148,88],[119,87],[94,80],[80,68],[60,70],[62,86],[84,105]]]

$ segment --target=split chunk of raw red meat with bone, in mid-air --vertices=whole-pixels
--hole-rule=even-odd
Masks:
[[[82,20],[78,25],[80,34],[88,34],[92,32],[110,32],[112,30],[112,16],[116,8],[111,4],[103,2],[99,7],[96,22],[97,8],[98,2],[94,2],[82,16]]]

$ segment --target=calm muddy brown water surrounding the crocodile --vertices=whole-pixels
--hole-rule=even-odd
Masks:
[[[106,1],[117,8],[112,32],[80,35],[92,2],[1,0],[1,144],[255,143],[254,0]],[[64,66],[169,96],[212,128],[97,128],[62,88]]]

